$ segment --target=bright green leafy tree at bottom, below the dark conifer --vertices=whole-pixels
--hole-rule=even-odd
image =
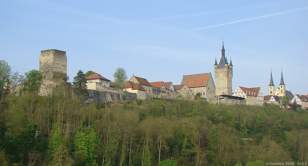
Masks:
[[[82,131],[80,128],[75,135],[75,158],[77,165],[97,165],[96,149],[99,148],[100,140],[93,128]]]

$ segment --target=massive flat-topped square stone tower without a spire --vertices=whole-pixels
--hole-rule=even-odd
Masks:
[[[56,49],[43,50],[39,57],[39,72],[43,75],[41,95],[52,93],[52,88],[67,82],[67,57],[65,51]]]

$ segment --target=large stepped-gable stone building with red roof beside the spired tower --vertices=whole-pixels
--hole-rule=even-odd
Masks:
[[[192,90],[194,96],[200,93],[201,98],[206,98],[208,102],[216,103],[215,85],[211,72],[183,75],[181,85],[185,84]]]

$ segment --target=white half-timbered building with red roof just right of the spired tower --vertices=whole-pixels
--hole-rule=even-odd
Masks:
[[[246,88],[239,86],[232,96],[242,97],[246,99],[246,105],[262,106],[264,102],[264,95],[261,87]]]

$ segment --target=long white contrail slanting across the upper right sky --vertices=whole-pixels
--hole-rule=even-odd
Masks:
[[[253,18],[249,18],[249,19],[242,19],[242,20],[237,20],[237,21],[231,21],[231,22],[228,22],[228,23],[222,23],[222,24],[211,25],[211,26],[195,28],[195,29],[189,29],[189,30],[184,30],[184,31],[177,31],[177,32],[196,31],[196,30],[201,30],[201,29],[220,27],[220,26],[223,26],[223,25],[229,25],[229,24],[239,23],[239,22],[243,22],[243,21],[261,19],[261,18],[271,17],[271,16],[275,16],[275,15],[283,15],[283,14],[287,14],[287,13],[294,13],[294,12],[297,12],[297,11],[307,10],[307,9],[308,9],[308,6],[301,7],[301,8],[296,8],[296,9],[292,9],[292,10],[287,10],[287,11],[283,11],[283,12],[279,12],[279,13],[274,13],[274,14],[270,14],[270,15],[262,15],[262,16],[259,16],[259,17],[253,17]]]

